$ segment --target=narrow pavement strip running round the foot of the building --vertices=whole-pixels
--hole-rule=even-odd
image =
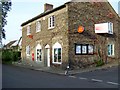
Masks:
[[[62,70],[59,68],[35,67],[32,65],[27,65],[27,64],[25,65],[25,64],[20,63],[20,62],[13,62],[13,65],[23,67],[23,68],[28,68],[31,70],[37,70],[37,71],[57,74],[57,75],[66,75],[65,70]],[[96,71],[96,70],[100,70],[100,69],[105,70],[105,69],[109,69],[109,68],[117,67],[117,66],[118,66],[118,61],[115,61],[115,62],[108,63],[108,64],[105,64],[105,65],[100,66],[100,67],[89,67],[89,68],[80,68],[80,69],[75,69],[75,70],[69,70],[67,75],[75,75],[75,74],[83,73],[83,72],[92,72],[92,71]]]

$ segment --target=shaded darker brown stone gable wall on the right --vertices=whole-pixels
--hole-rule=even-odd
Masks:
[[[112,16],[109,14],[112,13]],[[89,3],[89,2],[74,2],[68,5],[69,17],[69,60],[75,65],[83,64],[92,65],[94,60],[98,60],[98,48],[104,62],[118,60],[118,17],[114,10],[107,2]],[[114,34],[96,34],[94,24],[113,22]],[[83,33],[78,33],[78,26],[84,27]],[[94,55],[75,55],[75,43],[78,44],[93,44]],[[108,57],[108,43],[115,44],[115,56]],[[78,64],[79,62],[79,64]],[[77,67],[77,66],[76,66]]]

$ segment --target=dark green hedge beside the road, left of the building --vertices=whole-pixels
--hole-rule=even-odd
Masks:
[[[12,51],[12,50],[2,51],[3,63],[12,63],[13,61],[18,61],[20,57],[21,57],[21,53],[19,51]]]

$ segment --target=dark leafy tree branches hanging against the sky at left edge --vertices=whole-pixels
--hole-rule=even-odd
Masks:
[[[5,25],[7,25],[7,13],[11,10],[11,0],[0,0],[0,45],[2,45],[2,38],[5,39]]]

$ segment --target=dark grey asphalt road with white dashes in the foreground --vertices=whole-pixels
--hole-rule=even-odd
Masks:
[[[2,88],[118,88],[118,69],[62,76],[3,65]]]

